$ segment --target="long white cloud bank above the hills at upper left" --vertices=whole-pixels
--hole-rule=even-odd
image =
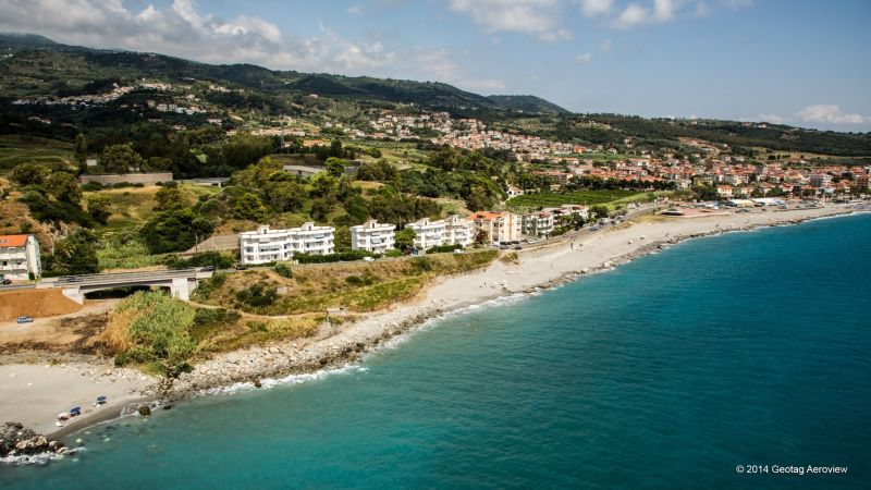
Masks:
[[[322,35],[283,33],[257,16],[226,21],[193,0],[130,10],[120,0],[2,0],[0,30],[35,32],[68,44],[160,52],[211,63],[256,63],[272,69],[363,74],[394,62],[378,40],[352,42]]]

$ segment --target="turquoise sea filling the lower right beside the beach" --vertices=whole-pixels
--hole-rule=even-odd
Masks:
[[[871,216],[690,241],[342,372],[93,428],[0,487],[869,488],[869,294]]]

